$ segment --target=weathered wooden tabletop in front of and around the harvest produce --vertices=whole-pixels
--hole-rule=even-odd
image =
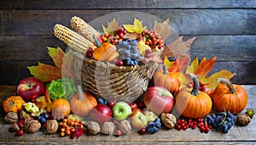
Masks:
[[[248,93],[247,108],[256,110],[256,86],[244,86]],[[0,86],[0,144],[256,144],[256,117],[247,126],[234,125],[229,133],[223,134],[214,129],[206,133],[200,133],[199,129],[177,131],[175,129],[161,129],[151,135],[140,135],[132,132],[122,137],[107,135],[83,135],[79,140],[71,140],[69,137],[59,137],[59,134],[48,135],[42,131],[36,133],[25,133],[17,137],[15,132],[9,131],[11,125],[3,121],[3,99],[14,95],[16,86]],[[243,111],[244,112],[244,111]]]

